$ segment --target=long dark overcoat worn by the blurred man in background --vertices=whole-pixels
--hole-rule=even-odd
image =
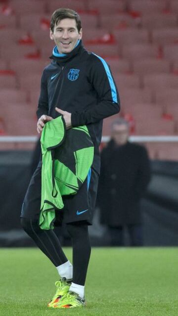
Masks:
[[[111,227],[140,224],[140,199],[150,180],[146,149],[111,140],[101,152],[98,205],[102,224]]]

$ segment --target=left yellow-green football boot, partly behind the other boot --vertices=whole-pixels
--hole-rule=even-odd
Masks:
[[[53,304],[60,302],[62,297],[69,292],[72,280],[66,280],[66,278],[61,278],[60,281],[55,282],[56,293],[52,300],[47,304],[47,307],[53,307]]]

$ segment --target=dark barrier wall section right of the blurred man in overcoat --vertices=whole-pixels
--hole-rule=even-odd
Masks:
[[[178,162],[154,160],[142,201],[144,244],[178,245]]]

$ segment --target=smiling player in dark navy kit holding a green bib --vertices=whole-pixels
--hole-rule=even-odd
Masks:
[[[93,162],[87,178],[76,195],[63,197],[64,209],[55,211],[54,225],[65,223],[71,237],[73,265],[65,256],[54,231],[42,230],[39,226],[42,159],[24,199],[21,224],[60,275],[60,281],[56,282],[56,293],[48,307],[74,308],[85,306],[84,289],[91,250],[88,226],[92,224],[97,193],[102,120],[119,112],[120,101],[107,63],[88,52],[82,44],[78,13],[66,8],[54,11],[50,39],[54,40],[56,46],[50,57],[52,61],[42,75],[37,131],[41,134],[46,122],[62,115],[66,135],[74,128],[85,129],[94,147]],[[74,157],[71,159],[74,160]],[[74,172],[77,174],[78,170]]]

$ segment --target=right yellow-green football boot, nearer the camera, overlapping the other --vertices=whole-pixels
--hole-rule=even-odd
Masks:
[[[61,300],[52,305],[53,308],[70,309],[74,307],[86,307],[85,298],[82,299],[77,293],[69,292],[62,296]]]

